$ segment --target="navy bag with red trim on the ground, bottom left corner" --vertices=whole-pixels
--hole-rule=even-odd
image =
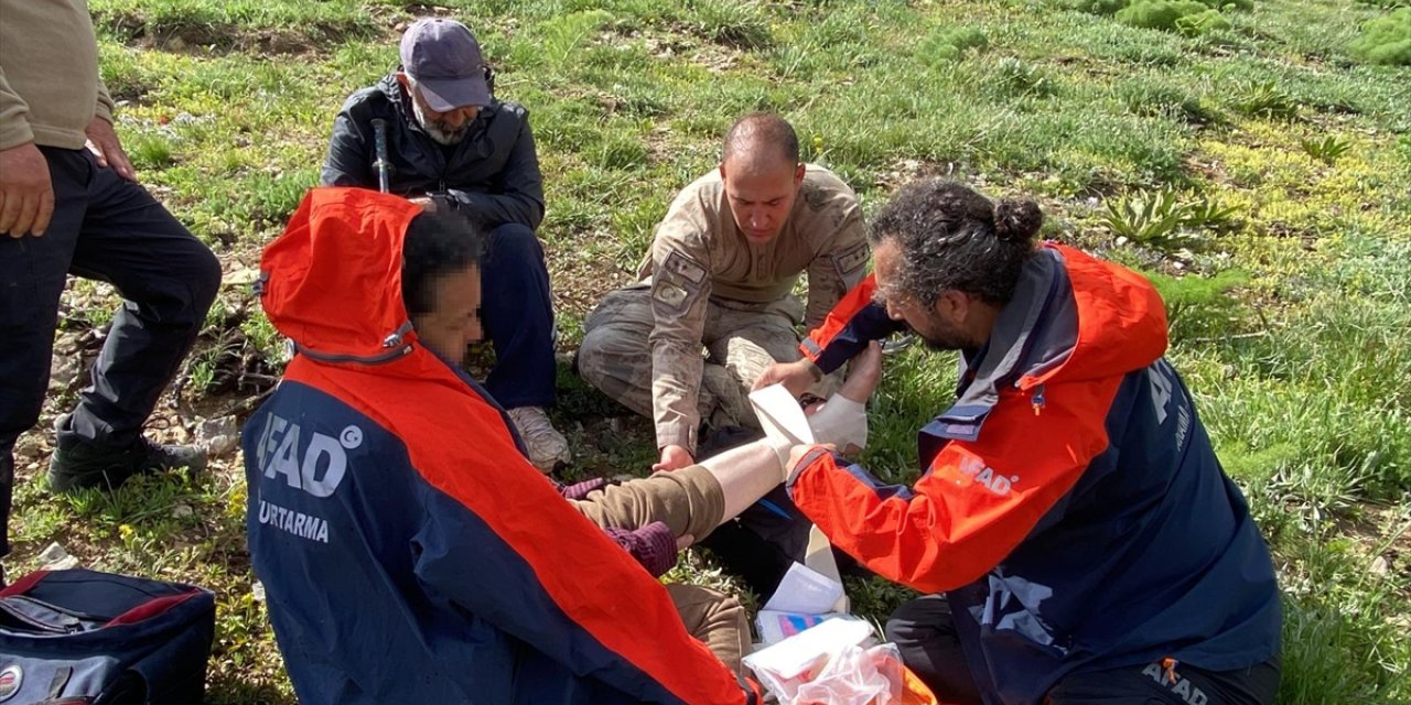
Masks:
[[[89,570],[0,589],[0,705],[193,705],[206,692],[216,599]]]

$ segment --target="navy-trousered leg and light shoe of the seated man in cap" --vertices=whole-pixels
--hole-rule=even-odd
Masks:
[[[485,389],[509,412],[539,470],[569,462],[569,441],[549,422],[555,402],[553,296],[543,245],[533,230],[507,223],[490,231],[481,266],[481,321],[495,348]]]

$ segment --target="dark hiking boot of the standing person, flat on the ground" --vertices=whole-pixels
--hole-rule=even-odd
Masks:
[[[126,448],[110,448],[59,434],[49,458],[49,489],[117,489],[133,475],[175,468],[206,470],[206,451],[196,446],[162,446],[141,436]]]

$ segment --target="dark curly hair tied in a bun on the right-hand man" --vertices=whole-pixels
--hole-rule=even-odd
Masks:
[[[882,295],[931,306],[957,289],[1003,306],[1015,296],[1040,224],[1043,213],[1029,199],[993,203],[962,183],[909,183],[872,219],[868,234],[873,248],[895,243],[900,250],[893,290]]]

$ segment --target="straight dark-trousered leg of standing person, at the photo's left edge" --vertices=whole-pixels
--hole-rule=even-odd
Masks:
[[[90,164],[76,149],[41,151],[54,183],[54,220],[42,237],[0,235],[0,557],[10,553],[11,454],[40,420],[59,296],[87,209]]]

